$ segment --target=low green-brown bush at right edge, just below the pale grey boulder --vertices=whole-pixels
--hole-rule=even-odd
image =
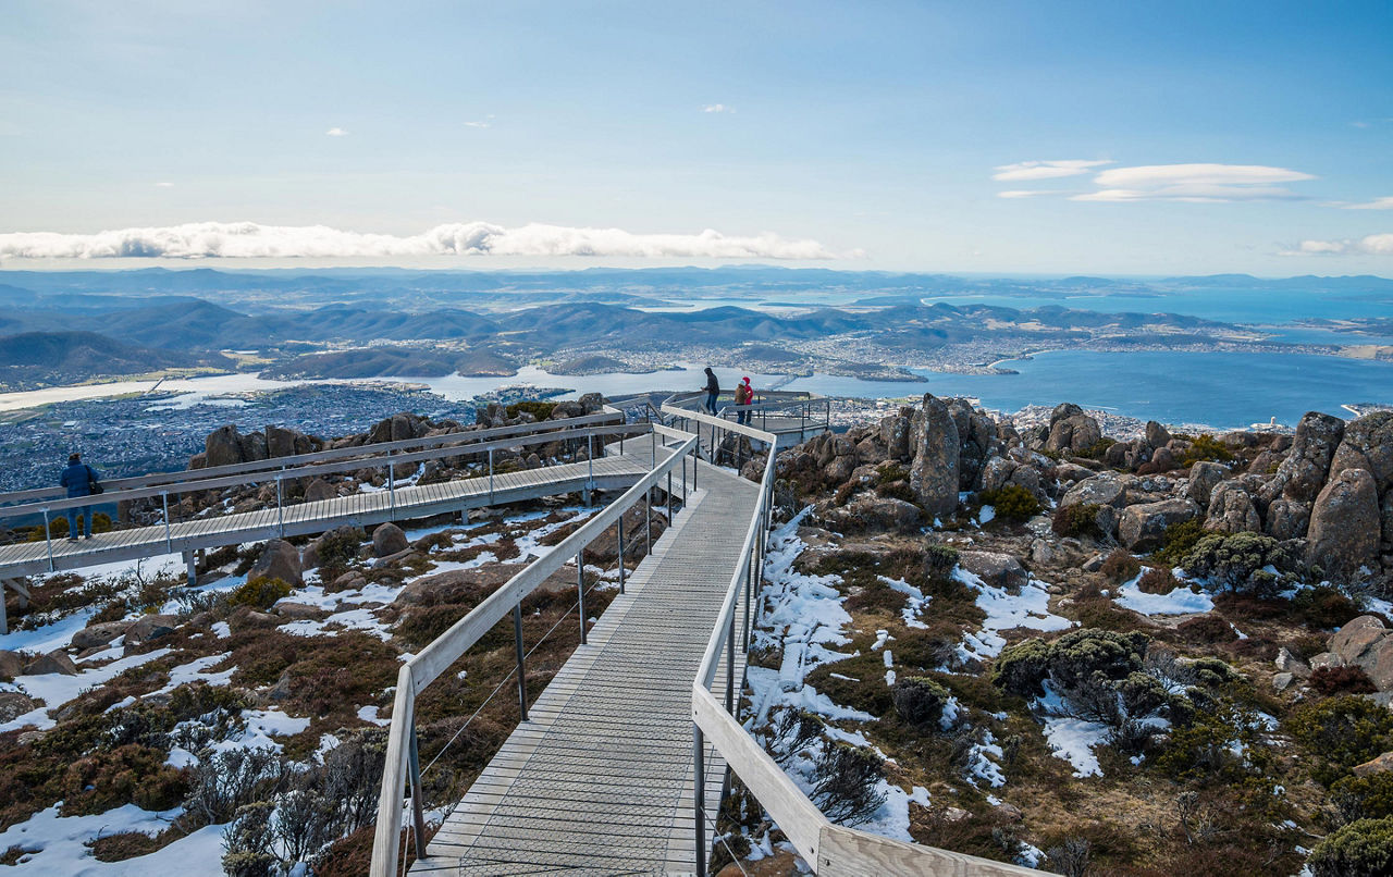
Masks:
[[[1358,695],[1308,703],[1293,713],[1287,729],[1318,759],[1312,774],[1326,785],[1393,749],[1393,713]]]

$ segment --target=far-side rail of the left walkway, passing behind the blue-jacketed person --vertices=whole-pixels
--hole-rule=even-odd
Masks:
[[[606,405],[603,406],[602,411],[596,413],[581,415],[577,418],[566,418],[563,420],[536,420],[534,423],[518,423],[515,426],[495,426],[479,430],[443,433],[440,436],[423,436],[421,438],[398,438],[396,441],[378,441],[373,444],[359,444],[354,447],[312,451],[309,454],[267,457],[266,459],[255,459],[241,464],[227,464],[223,466],[205,466],[202,469],[184,469],[177,472],[150,472],[146,475],[137,475],[131,477],[109,479],[102,482],[102,484],[107,490],[111,489],[130,490],[152,484],[163,484],[167,487],[174,487],[184,480],[189,480],[189,476],[195,473],[198,479],[216,477],[221,475],[252,473],[259,471],[274,471],[288,466],[301,466],[301,465],[319,464],[334,459],[352,459],[359,457],[371,457],[373,454],[405,451],[408,448],[430,448],[439,445],[475,444],[479,441],[488,441],[490,438],[503,438],[507,436],[525,436],[529,433],[549,432],[557,429],[557,426],[563,423],[568,427],[577,427],[577,426],[586,426],[591,423],[613,423],[623,420],[624,420],[624,412]],[[63,494],[63,487],[35,487],[31,490],[15,490],[11,493],[0,493],[0,507],[8,507],[17,503],[31,503],[32,500],[43,500],[47,497],[56,497],[61,494]],[[103,498],[102,501],[107,503],[109,500]],[[0,511],[7,511],[7,509],[0,508]]]

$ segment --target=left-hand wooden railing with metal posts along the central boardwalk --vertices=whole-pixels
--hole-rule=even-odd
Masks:
[[[421,759],[417,743],[415,704],[422,690],[437,679],[454,661],[457,661],[471,646],[479,642],[493,626],[513,615],[513,633],[517,645],[517,685],[518,707],[522,721],[527,721],[528,700],[522,650],[522,599],[536,590],[553,572],[561,569],[571,558],[577,562],[577,596],[579,600],[581,643],[585,643],[585,583],[584,583],[584,551],[585,547],[610,526],[618,525],[620,568],[624,565],[624,536],[623,515],[644,503],[645,509],[652,511],[653,489],[663,489],[669,503],[669,521],[671,521],[671,505],[680,497],[685,501],[688,486],[696,487],[696,438],[681,430],[667,429],[662,425],[634,425],[649,434],[649,459],[652,468],[648,475],[625,490],[618,498],[596,512],[589,521],[574,533],[561,540],[545,557],[540,557],[521,572],[508,579],[501,587],[489,594],[468,615],[457,621],[449,631],[430,642],[419,654],[403,664],[397,674],[397,692],[391,707],[391,729],[387,735],[387,753],[382,777],[382,795],[378,800],[378,825],[372,848],[372,877],[393,877],[401,862],[403,821],[405,819],[405,802],[411,807],[411,835],[417,858],[426,855],[426,825],[425,809],[422,803]],[[669,445],[669,441],[676,444]],[[635,440],[635,452],[642,454],[642,438]],[[688,480],[688,457],[692,457],[691,476]],[[681,487],[678,493],[674,484],[674,471],[681,473]],[[649,530],[651,532],[651,530]],[[623,593],[623,576],[620,578]],[[403,792],[407,791],[407,796]]]

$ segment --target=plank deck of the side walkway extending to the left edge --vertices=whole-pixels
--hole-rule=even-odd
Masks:
[[[164,525],[98,533],[82,542],[54,539],[52,564],[43,542],[0,546],[0,579],[81,569],[96,564],[137,560],[194,548],[258,542],[276,536],[322,533],[344,523],[361,526],[384,521],[426,518],[500,503],[573,493],[592,486],[624,489],[651,468],[651,454],[630,452],[596,457],[588,462],[507,472],[489,477],[378,490],[348,497],[286,505],[245,514],[198,518]]]

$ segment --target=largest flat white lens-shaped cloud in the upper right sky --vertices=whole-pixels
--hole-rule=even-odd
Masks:
[[[1094,177],[1096,192],[1074,195],[1074,200],[1273,200],[1298,198],[1276,185],[1315,180],[1286,167],[1263,164],[1145,164],[1113,167]]]

